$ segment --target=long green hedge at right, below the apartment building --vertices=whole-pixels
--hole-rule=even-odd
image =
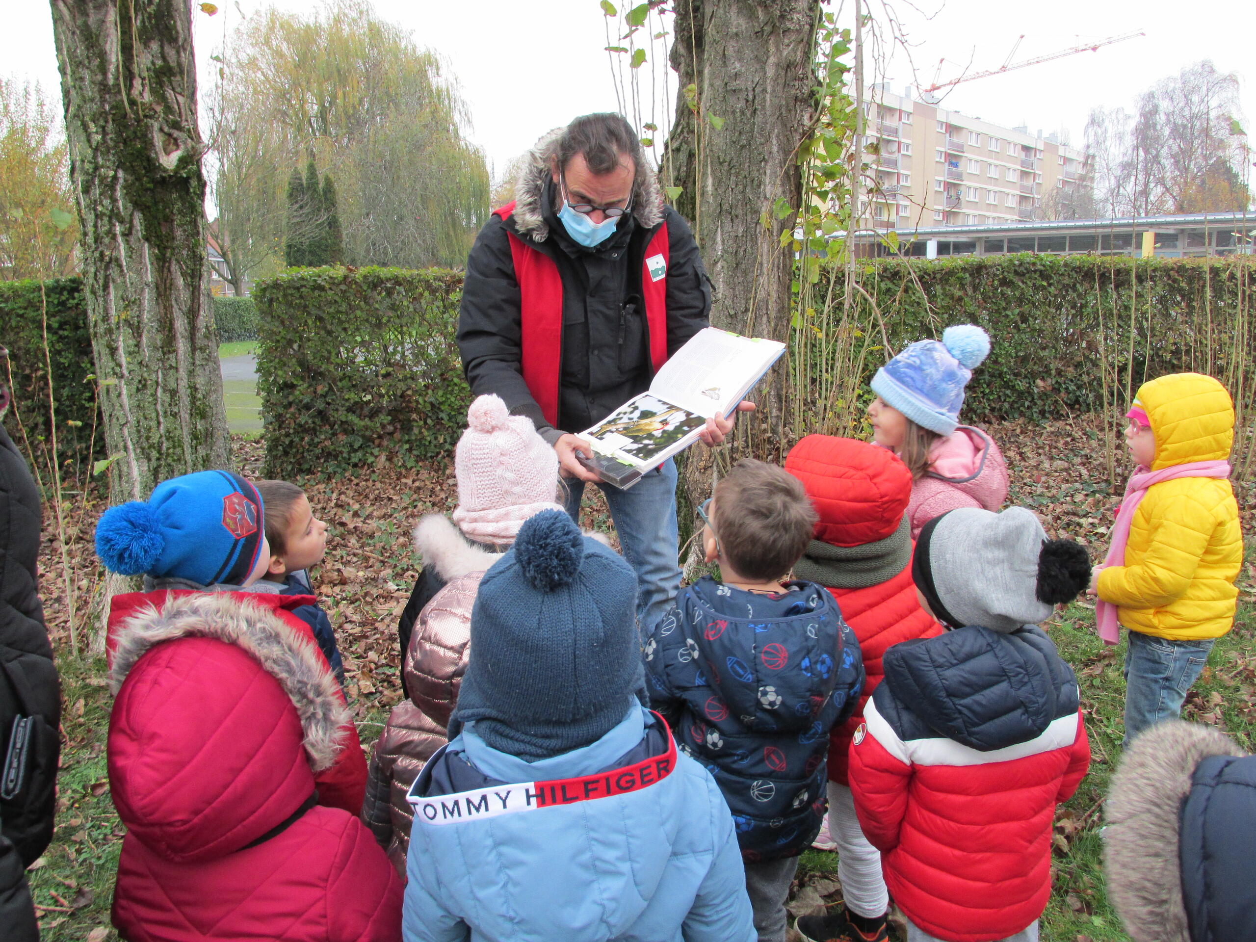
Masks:
[[[1225,378],[1231,369],[1246,377],[1248,396],[1256,387],[1256,265],[1250,259],[884,259],[860,264],[857,274],[877,306],[857,295],[857,323],[877,338],[863,360],[864,384],[885,360],[882,323],[896,352],[941,338],[950,324],[980,324],[990,333],[990,357],[967,388],[968,420],[1102,411],[1102,363],[1109,397],[1114,382],[1122,399],[1127,379],[1137,389],[1144,378],[1181,371]],[[840,303],[839,274],[833,288],[818,294]]]

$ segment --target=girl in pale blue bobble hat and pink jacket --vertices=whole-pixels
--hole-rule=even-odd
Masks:
[[[960,425],[963,388],[990,353],[990,337],[956,324],[937,340],[917,340],[877,371],[868,407],[873,442],[912,472],[907,509],[914,540],[933,517],[956,507],[997,510],[1007,499],[1002,452],[982,430]]]

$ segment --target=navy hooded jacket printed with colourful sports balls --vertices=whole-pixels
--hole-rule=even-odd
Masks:
[[[796,857],[815,840],[829,731],[864,682],[833,595],[788,585],[760,594],[700,579],[644,648],[651,706],[720,785],[749,862]]]

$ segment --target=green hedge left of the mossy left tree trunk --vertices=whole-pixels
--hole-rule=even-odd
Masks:
[[[48,311],[48,354],[44,349],[44,305]],[[51,409],[48,402],[48,360],[51,360],[53,398],[57,403],[57,438],[62,462],[82,462],[104,448],[95,384],[92,334],[88,329],[83,283],[62,278],[43,283],[0,281],[0,345],[9,350],[9,365],[0,364],[0,382],[9,386],[13,402],[4,425],[40,477],[49,475]],[[95,428],[94,443],[92,431]],[[25,433],[24,433],[25,432]],[[29,450],[28,450],[29,445]],[[88,453],[93,446],[94,455]]]

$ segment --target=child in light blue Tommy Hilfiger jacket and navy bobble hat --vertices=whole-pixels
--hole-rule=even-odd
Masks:
[[[484,577],[453,739],[407,796],[407,942],[752,942],[728,808],[637,698],[636,608],[561,510]]]

